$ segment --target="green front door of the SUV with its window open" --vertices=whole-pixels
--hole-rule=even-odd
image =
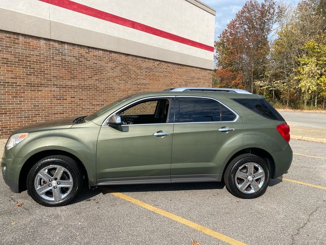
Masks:
[[[132,103],[115,113],[124,125],[101,127],[96,159],[98,184],[171,183],[172,99]]]

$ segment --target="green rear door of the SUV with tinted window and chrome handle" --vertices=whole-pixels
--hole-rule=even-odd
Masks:
[[[242,118],[209,97],[176,97],[172,182],[220,181],[226,157],[243,146]]]

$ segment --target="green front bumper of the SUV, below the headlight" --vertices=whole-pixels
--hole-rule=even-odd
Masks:
[[[10,151],[4,151],[3,157],[1,159],[2,175],[5,183],[13,192],[20,192],[19,175],[21,167],[25,161],[26,158],[14,157]]]

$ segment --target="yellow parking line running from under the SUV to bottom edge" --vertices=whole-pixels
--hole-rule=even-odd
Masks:
[[[152,205],[149,205],[147,203],[144,203],[144,202],[142,202],[140,200],[131,198],[131,197],[129,197],[129,195],[125,195],[125,194],[122,194],[120,192],[115,192],[114,190],[111,190],[111,189],[109,189],[107,187],[104,187],[104,186],[101,187],[101,189],[105,190],[108,193],[111,193],[111,194],[115,195],[118,198],[121,198],[121,199],[126,200],[126,201],[128,201],[130,203],[133,203],[133,204],[136,204],[136,205],[141,206],[143,208],[146,208],[146,209],[148,209],[148,210],[150,210],[152,212],[158,213],[158,214],[160,214],[162,216],[165,216],[165,217],[168,217],[170,219],[173,219],[174,221],[176,221],[178,223],[181,223],[181,224],[186,225],[188,227],[191,227],[191,228],[193,228],[195,230],[198,230],[200,232],[203,232],[203,233],[205,233],[205,234],[207,234],[209,236],[212,236],[214,238],[217,238],[217,239],[219,239],[221,241],[225,241],[225,242],[227,242],[229,244],[232,244],[232,245],[233,244],[239,244],[239,245],[240,244],[241,245],[245,245],[246,244],[246,243],[243,243],[241,241],[235,240],[235,239],[233,239],[231,237],[228,237],[226,235],[223,235],[223,234],[221,234],[219,232],[213,231],[213,230],[211,230],[211,229],[209,229],[207,227],[204,227],[204,226],[201,226],[199,224],[196,224],[196,223],[194,223],[194,222],[192,222],[190,220],[187,220],[185,218],[182,218],[180,216],[177,216],[177,215],[175,215],[173,213],[167,212],[167,211],[165,211],[163,209],[160,209],[160,208],[156,208],[156,207],[154,207]]]

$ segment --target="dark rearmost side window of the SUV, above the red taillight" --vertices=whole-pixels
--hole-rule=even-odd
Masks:
[[[275,110],[265,99],[233,99],[244,107],[262,115],[266,118],[284,121],[280,113]]]

